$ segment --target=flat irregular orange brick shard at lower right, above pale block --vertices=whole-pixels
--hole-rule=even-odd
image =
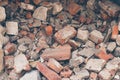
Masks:
[[[113,58],[112,54],[107,54],[104,51],[100,51],[99,53],[96,54],[97,57],[99,57],[100,59],[104,59],[106,61],[108,61],[109,59]]]

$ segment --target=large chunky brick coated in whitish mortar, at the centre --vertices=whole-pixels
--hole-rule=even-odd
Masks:
[[[70,38],[73,38],[75,35],[76,30],[68,25],[55,33],[55,39],[60,44],[65,44]]]

